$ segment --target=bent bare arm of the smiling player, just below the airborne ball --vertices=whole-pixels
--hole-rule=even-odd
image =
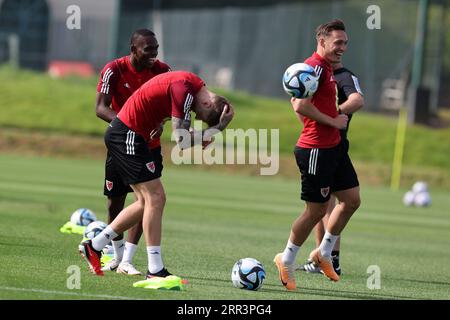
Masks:
[[[315,120],[319,123],[326,124],[328,126],[344,129],[347,126],[348,117],[345,114],[340,114],[336,118],[332,118],[319,111],[311,102],[311,98],[307,99],[294,99],[292,101],[294,111],[309,119]]]

